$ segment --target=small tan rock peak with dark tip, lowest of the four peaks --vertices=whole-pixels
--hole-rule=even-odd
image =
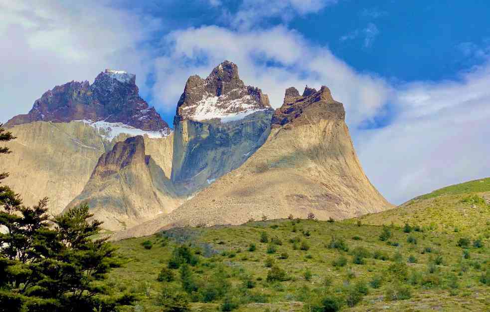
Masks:
[[[99,158],[83,191],[66,209],[82,203],[111,231],[167,214],[180,204],[170,180],[146,155],[143,136],[118,142]]]

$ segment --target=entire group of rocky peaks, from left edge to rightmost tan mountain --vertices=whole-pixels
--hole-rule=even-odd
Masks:
[[[342,103],[326,86],[285,92],[274,110],[230,61],[190,76],[173,129],[136,76],[106,69],[45,92],[6,123],[17,139],[0,171],[25,204],[81,203],[124,238],[250,219],[344,219],[392,207],[355,154]]]

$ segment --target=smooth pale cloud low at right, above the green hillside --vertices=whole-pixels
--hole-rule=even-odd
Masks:
[[[373,184],[394,203],[440,187],[490,176],[490,64],[458,81],[399,87],[398,116],[358,133],[359,158]]]

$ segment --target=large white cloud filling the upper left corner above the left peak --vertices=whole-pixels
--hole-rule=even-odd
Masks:
[[[92,80],[105,68],[137,75],[142,93],[150,71],[148,49],[158,29],[150,16],[98,1],[64,5],[54,1],[0,0],[0,122],[26,113],[56,84]]]

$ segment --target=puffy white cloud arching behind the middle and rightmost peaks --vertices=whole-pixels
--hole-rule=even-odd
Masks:
[[[344,101],[354,127],[374,117],[391,92],[383,79],[355,72],[326,47],[314,46],[284,26],[245,32],[217,26],[188,28],[171,32],[163,44],[170,50],[157,60],[154,94],[169,110],[175,108],[189,74],[205,77],[224,59],[238,65],[245,83],[262,88],[273,107],[282,104],[287,87],[302,91],[306,84],[327,85],[335,98]]]

